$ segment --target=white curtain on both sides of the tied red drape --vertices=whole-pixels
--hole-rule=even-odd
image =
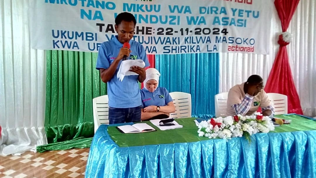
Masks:
[[[287,46],[295,87],[300,96],[304,115],[316,115],[316,3],[301,0],[293,15],[288,32],[293,41]],[[281,22],[274,8],[271,21],[270,54],[220,54],[219,92],[227,92],[236,84],[245,82],[252,74],[258,74],[264,82],[269,77],[276,53]]]

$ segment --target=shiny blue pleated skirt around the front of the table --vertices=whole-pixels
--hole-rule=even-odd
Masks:
[[[245,138],[119,147],[101,125],[86,178],[316,178],[316,131],[258,133]]]

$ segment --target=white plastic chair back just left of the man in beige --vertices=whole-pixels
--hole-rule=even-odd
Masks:
[[[216,117],[226,117],[228,92],[215,95]]]

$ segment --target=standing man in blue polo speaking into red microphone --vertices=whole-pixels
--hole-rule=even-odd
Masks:
[[[142,83],[146,79],[145,68],[131,67],[130,71],[138,75],[125,76],[123,81],[116,77],[124,56],[142,59],[145,67],[149,66],[144,47],[131,40],[135,26],[136,19],[131,13],[123,12],[117,15],[115,31],[118,35],[110,41],[103,42],[99,49],[96,69],[100,70],[102,81],[107,83],[110,124],[141,120],[142,100],[138,82]],[[126,42],[130,44],[130,49],[123,48]]]

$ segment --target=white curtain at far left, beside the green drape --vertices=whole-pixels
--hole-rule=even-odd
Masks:
[[[46,58],[30,46],[27,0],[0,0],[0,154],[47,144]]]

